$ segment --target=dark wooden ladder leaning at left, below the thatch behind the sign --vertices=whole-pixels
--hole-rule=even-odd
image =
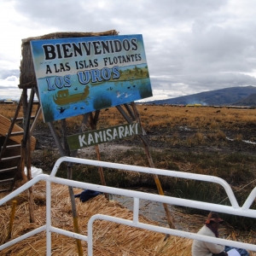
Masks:
[[[27,138],[29,136],[29,132],[32,133],[36,122],[38,120],[39,114],[41,113],[41,107],[39,102],[34,102],[34,94],[35,90],[32,88],[30,100],[28,102],[28,107],[26,110],[26,117],[18,118],[18,114],[20,113],[20,107],[22,105],[23,100],[23,93],[20,96],[20,102],[15,110],[15,116],[11,119],[11,124],[9,126],[9,131],[6,133],[5,140],[3,142],[3,146],[1,147],[0,151],[0,192],[12,190],[15,186],[15,181],[20,179],[22,176],[22,167],[24,168],[24,164],[22,164],[20,149],[22,143],[26,143]],[[32,116],[32,105],[38,104],[38,110],[35,116]],[[30,125],[31,120],[34,120],[32,125]],[[23,131],[13,131],[16,122],[23,121],[24,123],[24,130]],[[31,127],[31,128],[30,128]],[[29,129],[30,128],[30,129]],[[21,143],[17,143],[15,145],[11,144],[11,138],[15,136],[23,136]],[[13,151],[14,153],[9,153]],[[11,156],[9,156],[11,154]],[[3,163],[7,163],[3,164]],[[10,166],[10,167],[4,167]]]

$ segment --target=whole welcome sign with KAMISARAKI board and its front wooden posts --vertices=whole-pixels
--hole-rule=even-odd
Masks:
[[[79,148],[95,146],[97,160],[101,160],[98,144],[115,139],[138,136],[143,142],[149,166],[154,167],[148,149],[146,133],[140,124],[134,101],[153,96],[148,73],[143,36],[118,36],[115,31],[86,34],[54,33],[44,38],[28,38],[31,44],[33,67],[44,121],[55,139],[61,155],[76,156]],[[101,37],[104,35],[104,37]],[[23,73],[21,73],[23,75]],[[34,84],[34,81],[28,84]],[[128,103],[131,102],[131,107]],[[122,107],[125,106],[125,109]],[[127,124],[96,130],[101,109],[116,107]],[[94,114],[93,114],[94,113]],[[78,134],[67,136],[66,119],[84,115]],[[61,119],[62,141],[53,121]],[[91,131],[82,132],[89,122]],[[72,164],[67,177],[72,178]],[[102,184],[106,185],[102,167]],[[164,195],[157,175],[154,181],[160,195]],[[79,232],[73,188],[69,188],[73,208],[74,228]],[[108,195],[105,195],[108,198]],[[171,213],[164,204],[168,224],[174,228]],[[79,255],[81,245],[78,242]]]

